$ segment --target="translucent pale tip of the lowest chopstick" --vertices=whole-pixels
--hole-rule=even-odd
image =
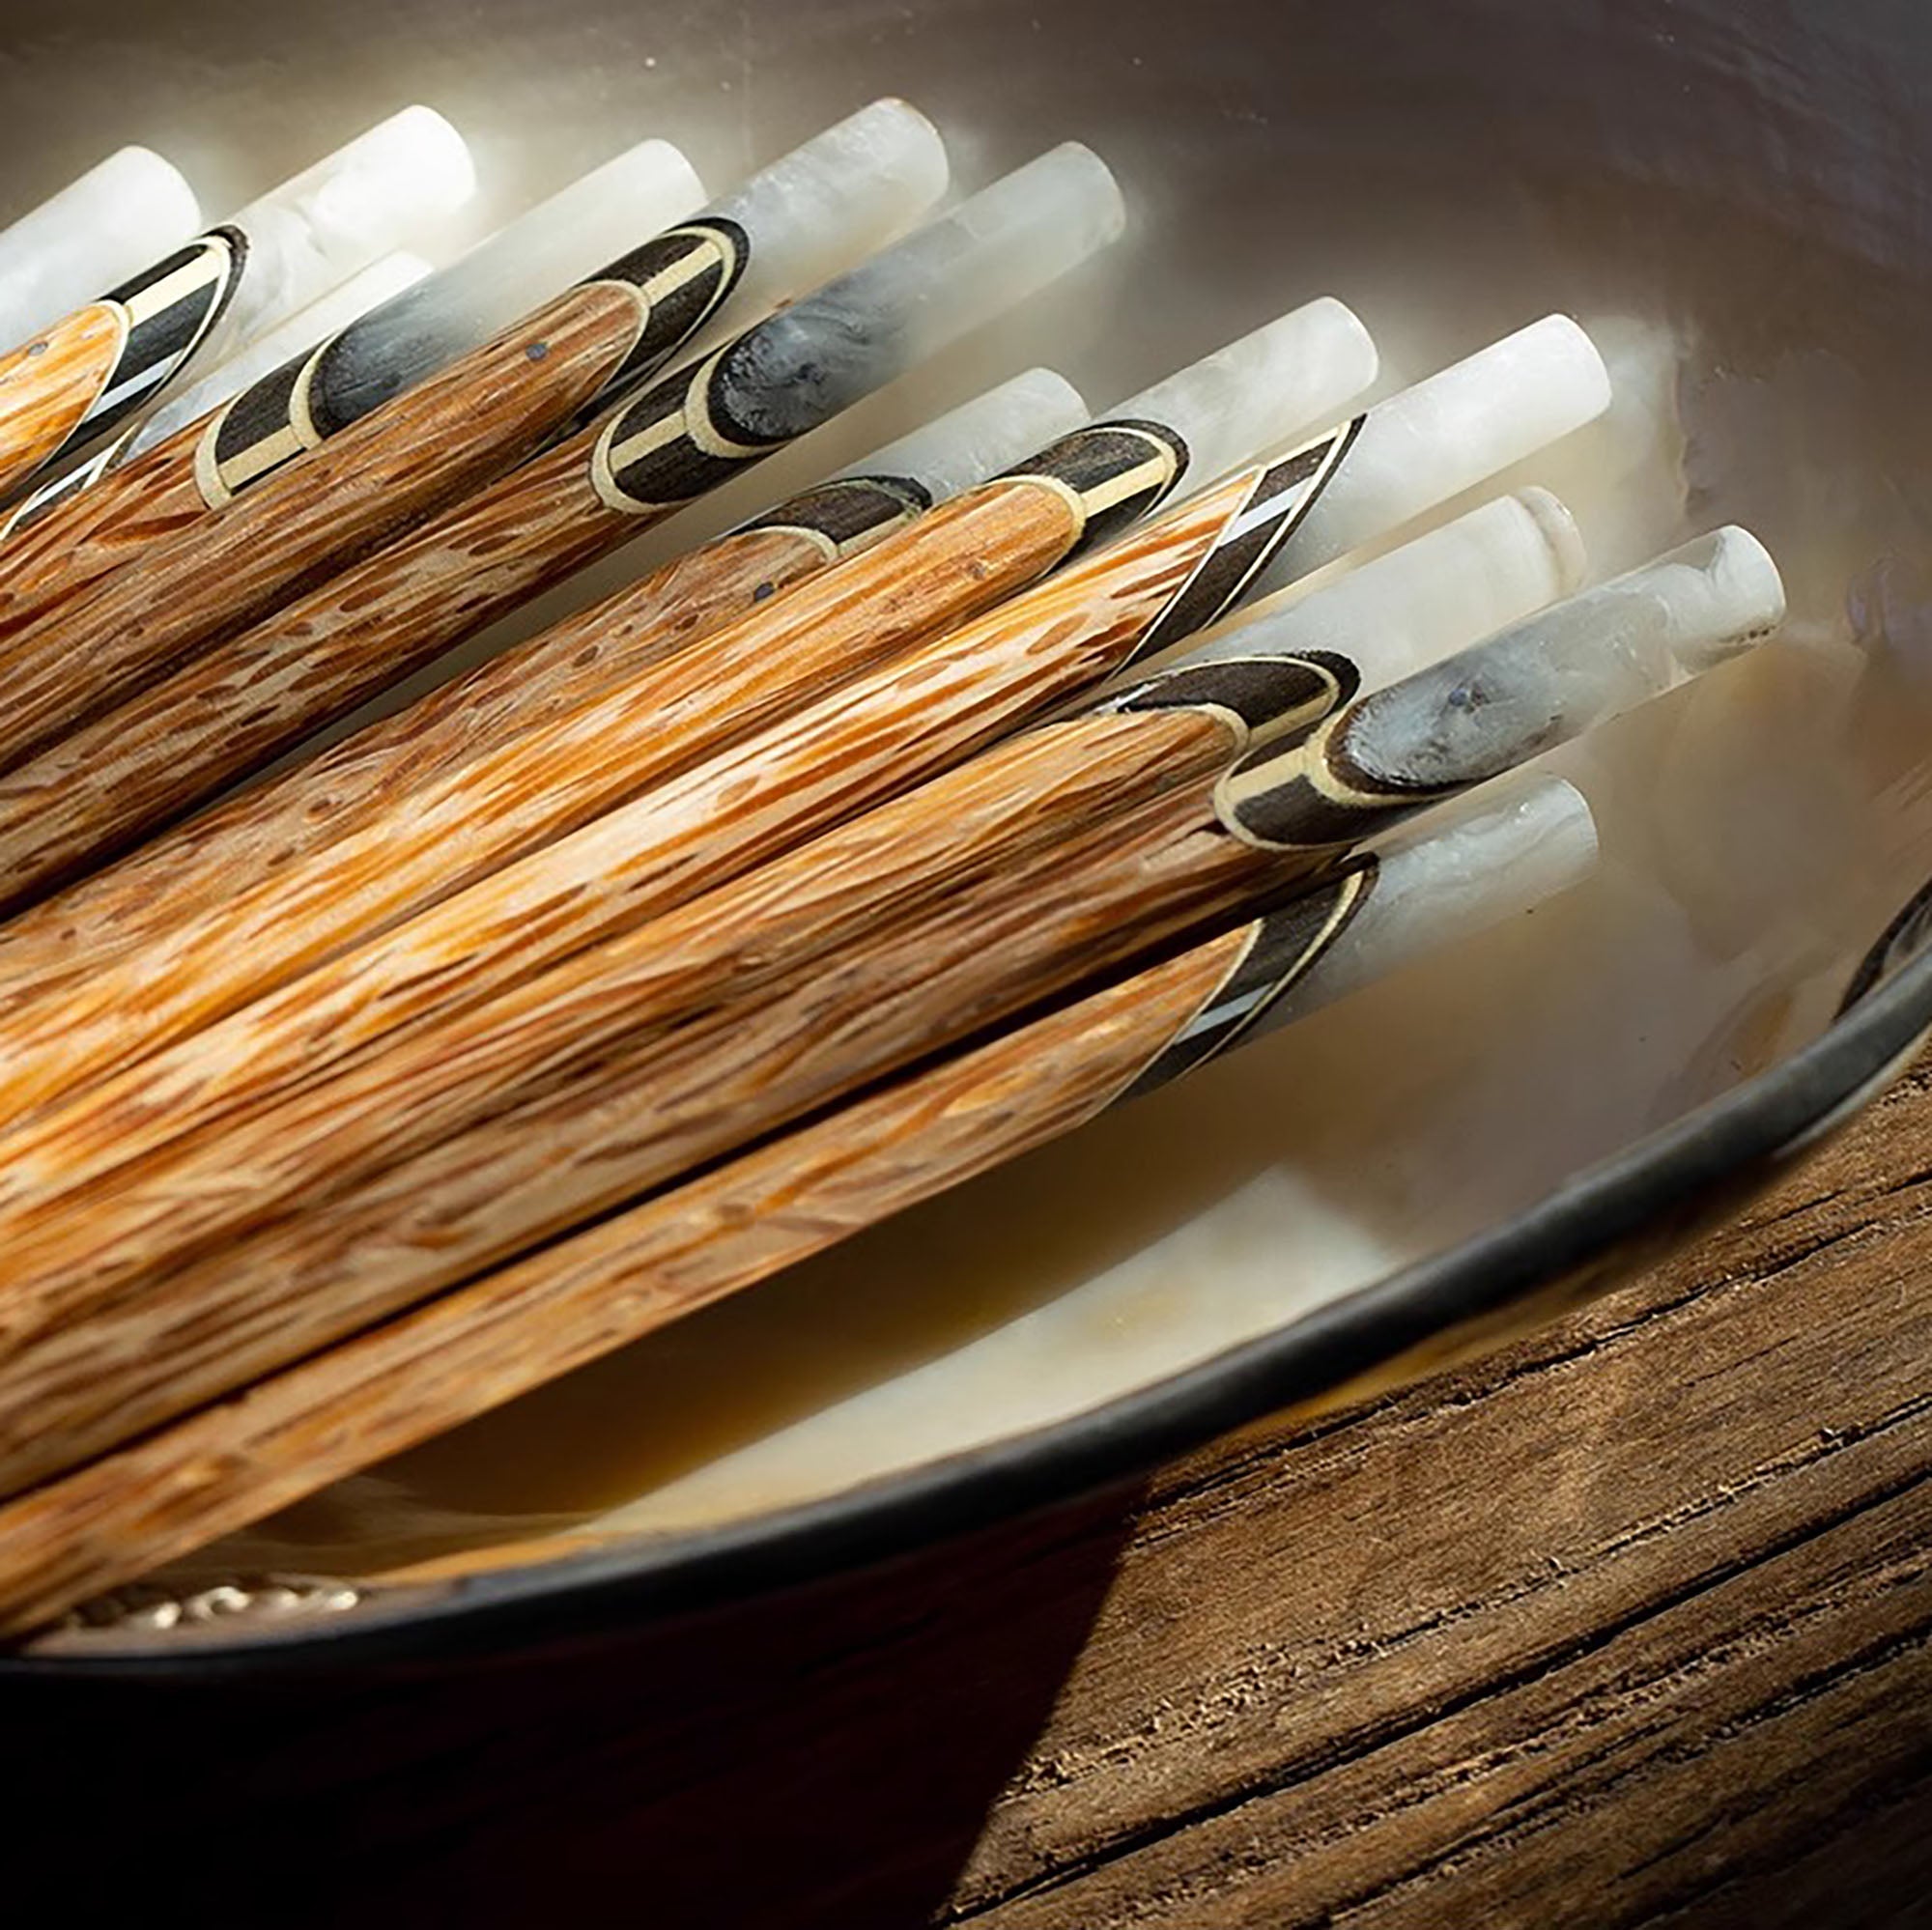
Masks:
[[[1453,821],[1432,819],[1381,850],[1368,898],[1264,1030],[1538,910],[1580,885],[1596,858],[1596,819],[1573,784],[1536,777],[1492,786]]]

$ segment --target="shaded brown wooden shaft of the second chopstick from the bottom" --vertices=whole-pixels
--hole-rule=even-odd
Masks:
[[[97,1246],[89,1263],[54,1275],[27,1262],[10,1283],[0,1486],[46,1478],[668,1184],[1287,875],[1204,831],[1198,800],[1179,794],[937,918],[875,935],[782,993],[553,1066],[526,1090],[554,1090],[398,1165],[309,1148],[301,1204],[280,1219],[265,1219],[270,1196],[290,1204],[272,1148],[222,1167],[218,1196],[155,1188],[137,1238],[164,1263],[135,1273],[129,1246]],[[1059,896],[1066,879],[1092,889]],[[481,1039],[466,1068],[481,1082],[504,1045],[514,1051],[506,1036]],[[357,1132],[367,1119],[357,1113]],[[118,1227],[128,1202],[102,1202]]]

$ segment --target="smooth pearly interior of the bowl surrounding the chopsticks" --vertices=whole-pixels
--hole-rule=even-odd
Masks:
[[[968,185],[1065,137],[1115,164],[1134,228],[1111,257],[516,634],[1001,373],[1045,361],[1103,404],[1318,294],[1368,321],[1383,390],[1577,315],[1617,406],[1497,487],[1563,495],[1594,576],[1735,520],[1791,589],[1777,641],[1553,759],[1604,842],[1569,896],[174,1582],[423,1578],[877,1491],[1513,1221],[1814,1045],[1932,869],[1932,27],[1849,15],[182,0],[83,10],[0,75],[23,201],[102,129],[242,199],[406,99],[479,137],[504,207],[643,133],[723,185],[877,93],[933,114]]]

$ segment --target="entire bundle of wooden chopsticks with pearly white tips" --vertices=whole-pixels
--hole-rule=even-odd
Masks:
[[[1323,298],[282,761],[1126,214],[1078,145],[949,199],[896,100],[450,255],[469,185],[412,108],[0,234],[0,1632],[1534,910],[1596,835],[1520,767],[1783,616],[1743,529],[1584,587],[1484,500],[1611,406],[1580,326],[1364,408]]]

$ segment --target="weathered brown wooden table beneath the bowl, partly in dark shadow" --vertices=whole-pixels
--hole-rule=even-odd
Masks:
[[[1928,1209],[1932,1068],[1563,1327],[1053,1520],[541,1665],[8,1685],[8,1887],[73,1924],[1928,1924]]]

